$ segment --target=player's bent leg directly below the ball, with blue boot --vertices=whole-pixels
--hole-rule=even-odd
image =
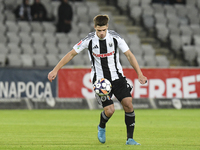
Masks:
[[[110,99],[109,96],[106,96],[106,100],[105,100],[105,96],[97,97],[97,100],[103,106],[103,111],[100,114],[100,123],[98,125],[98,139],[99,139],[99,142],[105,143],[105,141],[106,141],[106,135],[105,135],[106,123],[108,122],[110,117],[113,115],[115,109],[114,109],[113,101]],[[101,101],[99,101],[99,100],[101,100]]]

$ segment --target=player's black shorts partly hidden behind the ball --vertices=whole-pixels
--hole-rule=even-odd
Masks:
[[[120,102],[125,97],[132,97],[131,93],[130,93],[131,90],[132,90],[132,87],[127,82],[125,77],[114,80],[114,81],[111,82],[111,84],[112,84],[112,91],[110,92],[109,97],[112,97],[112,95],[114,94],[114,96]],[[111,105],[111,104],[113,104],[113,101],[109,98],[107,98],[106,101],[102,102],[103,107]]]

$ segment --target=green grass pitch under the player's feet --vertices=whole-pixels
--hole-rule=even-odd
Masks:
[[[0,150],[200,150],[200,109],[135,110],[134,139],[125,145],[123,110],[97,140],[101,110],[0,110]]]

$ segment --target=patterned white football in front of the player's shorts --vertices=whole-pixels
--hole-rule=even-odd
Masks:
[[[109,80],[102,78],[94,82],[94,92],[99,96],[105,96],[112,90],[112,85]]]

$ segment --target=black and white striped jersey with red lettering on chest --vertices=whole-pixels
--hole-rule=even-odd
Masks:
[[[88,50],[93,82],[101,78],[114,81],[124,76],[119,61],[119,50],[124,53],[129,50],[129,47],[115,31],[108,30],[104,39],[99,39],[96,32],[89,33],[73,48],[77,53],[85,49]]]

